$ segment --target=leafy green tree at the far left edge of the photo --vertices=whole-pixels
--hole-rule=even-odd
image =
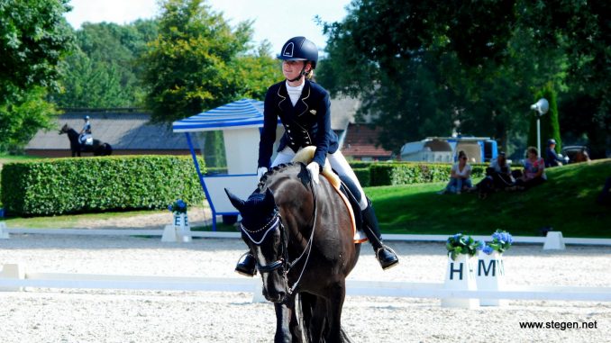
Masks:
[[[50,127],[46,89],[58,86],[71,47],[68,0],[0,0],[0,149],[17,150]]]

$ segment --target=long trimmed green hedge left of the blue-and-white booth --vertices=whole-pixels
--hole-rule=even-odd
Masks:
[[[204,200],[193,160],[177,156],[8,163],[1,189],[5,211],[21,216],[162,209],[178,198]]]

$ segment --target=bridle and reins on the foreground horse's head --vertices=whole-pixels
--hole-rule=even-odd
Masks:
[[[301,276],[303,276],[304,272],[306,271],[307,261],[310,258],[310,253],[312,252],[312,245],[313,245],[312,242],[314,241],[314,232],[316,229],[316,214],[317,214],[316,191],[315,191],[315,186],[312,180],[310,180],[310,188],[312,189],[312,195],[314,198],[314,222],[312,224],[312,232],[310,233],[310,239],[307,240],[306,248],[304,248],[304,251],[301,252],[301,255],[299,255],[299,257],[294,259],[292,262],[288,261],[288,234],[287,234],[287,230],[285,229],[284,224],[282,224],[282,216],[280,215],[278,208],[274,209],[274,214],[272,215],[271,219],[265,225],[263,225],[260,229],[251,230],[251,229],[247,229],[242,223],[240,224],[240,229],[242,230],[242,232],[249,239],[251,239],[252,243],[256,245],[260,245],[261,243],[263,243],[263,241],[268,237],[269,232],[272,232],[278,229],[280,230],[280,254],[279,255],[281,257],[278,260],[272,263],[269,263],[268,265],[265,265],[265,266],[261,266],[259,261],[257,261],[257,269],[259,270],[260,273],[271,273],[278,268],[282,268],[283,269],[282,275],[284,275],[284,277],[286,278],[291,268],[293,268],[301,260],[302,257],[304,256],[306,257],[306,261],[304,262],[304,266],[301,269],[301,273],[299,274],[297,281],[295,282],[295,284],[293,284],[291,287],[288,288],[289,294],[295,291],[297,284],[299,284],[299,282],[301,281]],[[265,230],[265,232],[263,233],[261,239],[259,240],[253,239],[253,234],[259,234],[263,230]]]

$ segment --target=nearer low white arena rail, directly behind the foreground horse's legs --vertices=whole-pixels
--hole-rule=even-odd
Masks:
[[[6,273],[6,271],[17,271]],[[76,273],[39,273],[23,266],[5,265],[0,274],[0,291],[32,288],[113,289],[152,291],[242,292],[260,300],[259,277],[181,277],[150,275],[101,275]],[[611,302],[611,287],[510,286],[501,291],[451,290],[442,283],[406,283],[347,280],[346,292],[356,296],[408,298],[471,298],[507,300],[554,300]]]

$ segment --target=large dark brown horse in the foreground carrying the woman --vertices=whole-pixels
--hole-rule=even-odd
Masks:
[[[360,244],[333,186],[324,177],[314,184],[306,165],[296,163],[272,168],[246,201],[225,191],[242,214],[242,239],[257,260],[263,295],[275,305],[274,341],[302,342],[303,332],[306,342],[350,342],[342,305]]]

